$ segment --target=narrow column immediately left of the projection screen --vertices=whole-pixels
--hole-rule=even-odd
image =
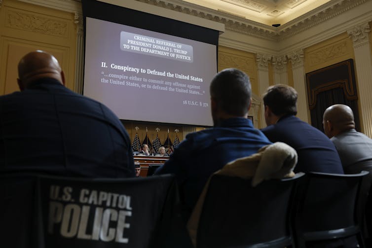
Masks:
[[[75,12],[74,23],[76,25],[76,64],[75,64],[75,85],[76,93],[83,93],[83,75],[84,75],[84,32],[82,14]]]

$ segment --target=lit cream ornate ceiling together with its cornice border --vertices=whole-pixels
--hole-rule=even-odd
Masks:
[[[372,0],[137,1],[217,21],[225,24],[226,30],[280,41]],[[281,25],[272,27],[272,24]]]

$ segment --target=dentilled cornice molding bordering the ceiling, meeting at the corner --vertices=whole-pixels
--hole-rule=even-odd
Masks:
[[[371,0],[331,0],[278,28],[260,24],[228,12],[219,12],[182,0],[136,0],[172,9],[189,15],[221,22],[226,30],[251,35],[271,41],[281,41],[319,25],[335,16]]]

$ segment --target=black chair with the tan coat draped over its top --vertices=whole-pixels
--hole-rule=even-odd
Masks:
[[[214,175],[197,232],[198,248],[284,248],[292,245],[290,208],[303,173],[252,187],[251,179]]]

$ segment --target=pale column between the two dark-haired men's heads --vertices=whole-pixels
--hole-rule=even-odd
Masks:
[[[258,82],[259,82],[259,94],[261,97],[266,89],[269,87],[269,69],[268,65],[270,62],[271,56],[267,54],[258,53],[256,56],[257,69],[258,69]],[[260,127],[266,127],[265,123],[265,109],[263,104],[260,108]]]

